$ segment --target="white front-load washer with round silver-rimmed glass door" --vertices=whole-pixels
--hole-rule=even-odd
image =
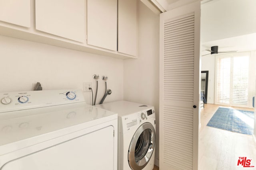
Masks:
[[[154,107],[127,101],[96,107],[118,113],[118,169],[152,170],[156,139]]]

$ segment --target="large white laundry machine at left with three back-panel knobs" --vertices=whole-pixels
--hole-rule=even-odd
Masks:
[[[117,170],[117,128],[80,90],[0,93],[0,170]]]

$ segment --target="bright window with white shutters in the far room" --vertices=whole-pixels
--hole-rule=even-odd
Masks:
[[[250,53],[216,57],[215,104],[248,107]]]

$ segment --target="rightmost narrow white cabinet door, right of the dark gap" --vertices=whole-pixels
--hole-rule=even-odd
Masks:
[[[118,52],[137,55],[137,0],[118,0]]]

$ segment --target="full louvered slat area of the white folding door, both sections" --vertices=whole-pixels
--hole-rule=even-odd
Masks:
[[[163,46],[163,161],[192,169],[193,109],[170,103],[193,102],[194,14],[164,22]]]

